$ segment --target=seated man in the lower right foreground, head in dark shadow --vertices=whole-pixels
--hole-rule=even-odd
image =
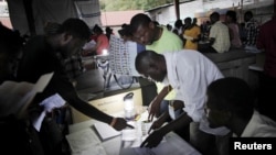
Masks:
[[[206,90],[210,128],[226,126],[238,137],[276,137],[276,122],[254,109],[250,86],[240,78],[213,81]]]

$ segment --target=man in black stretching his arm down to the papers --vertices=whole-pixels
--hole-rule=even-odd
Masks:
[[[93,119],[103,121],[116,130],[128,126],[125,119],[113,118],[83,101],[57,56],[66,58],[79,52],[89,38],[88,26],[79,19],[67,19],[63,24],[46,32],[51,33],[34,36],[26,43],[18,70],[18,80],[30,82],[36,82],[42,75],[54,71],[50,84],[42,93],[35,97],[33,103],[39,103],[45,98],[59,93],[73,108]]]

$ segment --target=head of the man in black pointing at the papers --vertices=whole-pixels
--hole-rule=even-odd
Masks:
[[[45,32],[51,32],[46,34],[50,38],[57,36],[55,38],[59,38],[59,41],[53,40],[52,45],[59,49],[64,57],[81,52],[91,36],[89,27],[79,19],[67,19],[62,24],[50,24],[45,27]]]

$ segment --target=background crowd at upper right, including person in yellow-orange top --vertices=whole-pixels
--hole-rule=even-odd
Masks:
[[[166,26],[183,40],[183,46],[188,49],[202,53],[224,53],[240,48],[259,52],[256,47],[259,23],[252,11],[244,13],[242,23],[237,22],[237,13],[233,10],[226,11],[224,16],[222,19],[219,12],[213,12],[210,20],[203,21],[201,25],[197,24],[197,18],[188,16],[183,22],[177,20],[173,27],[170,24]]]

